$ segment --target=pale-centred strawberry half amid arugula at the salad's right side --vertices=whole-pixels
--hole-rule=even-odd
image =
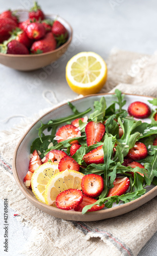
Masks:
[[[141,160],[145,158],[147,155],[148,155],[148,152],[145,144],[142,142],[136,142],[134,147],[132,147],[129,150],[127,157],[136,161],[136,160]]]

